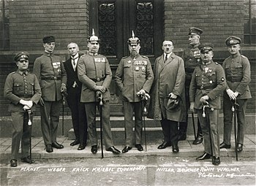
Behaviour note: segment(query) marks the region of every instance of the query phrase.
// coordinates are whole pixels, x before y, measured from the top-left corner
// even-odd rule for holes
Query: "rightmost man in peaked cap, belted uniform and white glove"
[[[230,56],[222,64],[225,70],[227,88],[223,94],[224,133],[223,142],[220,148],[230,149],[230,135],[232,130],[233,111],[232,106],[236,101],[236,113],[238,123],[237,152],[243,150],[244,131],[246,128],[245,111],[248,98],[252,98],[249,90],[251,81],[251,70],[248,58],[241,55],[241,39],[236,36],[229,36],[226,41],[227,50]]]

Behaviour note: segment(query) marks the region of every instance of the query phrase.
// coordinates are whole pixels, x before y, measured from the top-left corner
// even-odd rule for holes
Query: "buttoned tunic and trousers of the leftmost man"
[[[30,129],[28,125],[28,112],[23,110],[20,99],[33,101],[31,111],[35,110],[35,104],[41,98],[41,90],[37,77],[28,71],[16,71],[7,76],[4,85],[4,96],[10,100],[9,111],[12,112],[12,159],[18,158],[21,140],[21,155],[26,158],[29,155]],[[31,122],[33,122],[31,116]]]

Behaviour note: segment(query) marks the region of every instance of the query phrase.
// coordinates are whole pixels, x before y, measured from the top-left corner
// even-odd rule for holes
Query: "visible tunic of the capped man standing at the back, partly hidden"
[[[198,48],[200,43],[195,44],[194,46],[189,45],[184,52],[182,53],[181,58],[184,60],[185,73],[186,73],[186,85],[189,86],[193,71],[196,66],[200,66],[200,50]]]

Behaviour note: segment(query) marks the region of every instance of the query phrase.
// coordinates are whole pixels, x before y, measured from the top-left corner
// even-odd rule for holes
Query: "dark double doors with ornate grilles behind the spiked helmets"
[[[140,54],[154,59],[162,53],[163,0],[90,0],[89,28],[101,39],[99,53],[112,66],[129,55],[127,39],[140,39]]]

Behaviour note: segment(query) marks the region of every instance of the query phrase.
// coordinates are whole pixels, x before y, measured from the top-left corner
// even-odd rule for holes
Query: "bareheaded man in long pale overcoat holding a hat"
[[[164,53],[154,62],[148,117],[161,122],[165,140],[157,148],[162,150],[172,146],[173,153],[178,153],[178,122],[184,121],[186,110],[185,70],[183,59],[173,53],[173,48],[172,41],[162,42]],[[170,100],[180,101],[177,106],[171,106],[172,104],[168,104]]]

